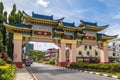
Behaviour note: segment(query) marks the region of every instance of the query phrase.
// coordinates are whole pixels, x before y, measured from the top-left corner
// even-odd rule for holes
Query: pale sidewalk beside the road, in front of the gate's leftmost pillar
[[[21,68],[17,70],[14,80],[34,80],[32,75],[26,70],[26,68]]]

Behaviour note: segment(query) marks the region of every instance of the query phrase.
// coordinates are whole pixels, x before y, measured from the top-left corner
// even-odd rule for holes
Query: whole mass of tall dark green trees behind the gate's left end
[[[20,10],[17,12],[16,4],[13,5],[9,17],[7,17],[7,11],[4,11],[4,5],[0,2],[0,49],[6,50],[8,55],[13,57],[13,33],[7,33],[3,22],[9,24],[20,24],[22,23],[23,14]],[[0,50],[0,51],[1,51]]]

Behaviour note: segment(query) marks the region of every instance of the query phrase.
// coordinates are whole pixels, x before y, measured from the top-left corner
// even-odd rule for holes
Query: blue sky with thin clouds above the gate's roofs
[[[11,11],[16,3],[17,9],[29,15],[32,12],[54,15],[55,19],[65,17],[64,21],[79,24],[80,20],[107,25],[103,33],[120,34],[120,0],[0,0],[5,10]]]

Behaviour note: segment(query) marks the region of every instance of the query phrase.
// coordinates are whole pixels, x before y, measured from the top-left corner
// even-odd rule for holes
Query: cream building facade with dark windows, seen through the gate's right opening
[[[97,46],[81,45],[77,48],[77,61],[100,62],[100,49]]]

